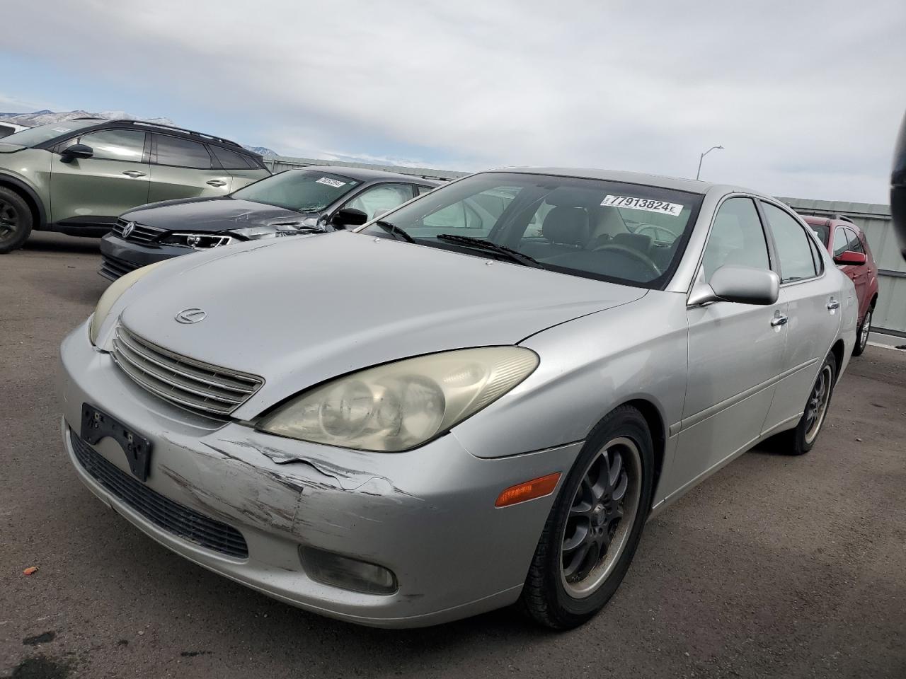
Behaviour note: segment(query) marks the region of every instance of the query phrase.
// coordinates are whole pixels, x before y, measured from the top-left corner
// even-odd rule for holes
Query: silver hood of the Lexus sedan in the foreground
[[[218,250],[150,273],[120,320],[160,347],[265,378],[239,418],[352,370],[516,344],[646,292],[350,232]],[[204,320],[177,322],[190,308]]]

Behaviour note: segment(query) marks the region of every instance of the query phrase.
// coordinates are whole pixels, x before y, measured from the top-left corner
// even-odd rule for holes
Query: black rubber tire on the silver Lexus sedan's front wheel
[[[622,513],[623,511],[623,503],[631,500],[631,498],[627,497],[630,494],[630,488],[632,488],[633,497],[636,497],[635,487],[631,484],[637,483],[638,500],[635,502],[634,515],[631,524],[627,522],[622,524],[622,526],[621,522],[623,519],[602,519],[602,521],[616,521],[614,524],[616,526],[614,535],[607,538],[611,546],[613,546],[611,540],[615,541],[617,535],[622,535],[621,542],[615,548],[617,553],[612,555],[611,558],[605,556],[601,560],[595,560],[600,558],[600,552],[595,552],[595,556],[591,557],[590,560],[601,567],[605,566],[607,561],[610,561],[610,564],[607,565],[606,569],[602,570],[602,576],[599,576],[603,579],[597,582],[589,590],[589,593],[576,597],[573,596],[573,593],[568,588],[581,586],[583,580],[569,584],[564,569],[564,555],[570,553],[566,551],[569,548],[564,544],[565,531],[569,521],[576,521],[574,514],[571,514],[571,509],[574,511],[573,502],[578,501],[580,493],[584,493],[585,489],[591,491],[589,486],[583,486],[583,480],[588,474],[592,473],[594,465],[601,464],[599,463],[601,459],[616,459],[610,453],[611,456],[605,458],[602,451],[605,449],[608,451],[616,449],[621,444],[616,444],[612,447],[607,446],[619,440],[630,441],[634,444],[635,451],[632,451],[632,446],[625,446],[622,451],[618,450],[621,453],[620,464],[622,464],[622,467],[618,468],[618,480],[613,483],[614,492],[612,494],[614,496],[617,494],[615,486],[622,484],[622,471],[625,470],[627,485],[622,493],[620,512]],[[632,467],[630,458],[635,456],[634,453],[638,453],[638,468]],[[625,460],[623,460],[624,456]],[[632,471],[633,468],[635,469],[634,472]],[[631,473],[639,476],[636,482],[629,478]],[[594,427],[592,434],[588,437],[588,441],[583,446],[582,452],[576,459],[575,464],[573,464],[573,468],[567,474],[560,493],[557,494],[554,507],[551,509],[551,513],[545,523],[545,529],[542,531],[541,540],[539,540],[535,549],[535,556],[532,559],[532,565],[525,579],[525,587],[520,598],[520,606],[530,617],[534,618],[538,623],[553,629],[572,629],[582,625],[601,610],[620,586],[626,571],[629,569],[632,556],[639,546],[641,531],[651,509],[653,478],[654,445],[651,442],[651,432],[645,418],[631,406],[620,406],[612,410],[608,416],[605,416]],[[582,491],[580,491],[580,486],[583,487]],[[593,502],[596,502],[593,510],[600,510],[602,508],[600,502],[604,501],[595,500]],[[616,511],[615,507],[614,511]],[[609,506],[607,514],[609,515],[610,512],[611,508]],[[589,512],[589,517],[601,517],[602,514],[603,512],[595,513],[593,511]],[[624,518],[628,521],[628,517]],[[584,517],[582,519],[584,520]],[[593,521],[597,520],[588,519],[590,525],[593,525]],[[610,524],[605,523],[604,526],[606,527],[603,530],[609,534],[611,530]],[[602,529],[596,528],[593,530],[600,531]],[[610,552],[605,551],[604,553]],[[594,570],[587,575],[586,579],[593,579],[593,572]]]

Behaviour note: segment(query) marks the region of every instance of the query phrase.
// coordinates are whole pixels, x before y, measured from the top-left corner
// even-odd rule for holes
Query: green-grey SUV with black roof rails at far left
[[[0,139],[0,253],[33,229],[100,236],[153,201],[224,196],[270,172],[236,142],[140,120],[77,118]]]

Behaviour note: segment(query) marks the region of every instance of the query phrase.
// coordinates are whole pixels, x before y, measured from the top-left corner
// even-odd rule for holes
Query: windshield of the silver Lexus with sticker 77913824
[[[416,243],[648,288],[670,280],[702,196],[599,179],[487,172],[384,215]],[[375,223],[361,233],[405,238]],[[524,263],[530,260],[522,258]]]

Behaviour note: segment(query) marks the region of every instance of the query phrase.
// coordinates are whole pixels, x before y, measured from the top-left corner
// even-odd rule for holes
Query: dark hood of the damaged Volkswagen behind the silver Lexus
[[[300,223],[304,215],[229,196],[167,200],[130,210],[123,219],[167,231],[219,232],[244,226]]]

